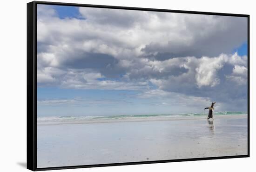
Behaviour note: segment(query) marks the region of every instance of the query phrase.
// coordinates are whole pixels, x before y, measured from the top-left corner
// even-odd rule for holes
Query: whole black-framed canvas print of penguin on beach
[[[27,168],[249,157],[249,15],[27,4]]]

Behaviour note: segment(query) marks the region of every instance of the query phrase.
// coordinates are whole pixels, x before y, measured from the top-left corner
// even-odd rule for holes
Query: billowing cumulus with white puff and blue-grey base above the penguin
[[[180,76],[152,78],[150,82],[164,91],[187,96],[209,97],[215,102],[225,102],[222,103],[223,108],[229,107],[228,104],[234,103],[233,101],[237,99],[246,102],[247,78],[234,75],[234,69],[227,67],[244,64],[245,57],[235,53],[212,58],[182,57],[182,59],[184,61],[180,65],[183,65],[188,72]],[[242,102],[242,104],[246,107],[245,103]],[[241,107],[241,104],[239,106]]]

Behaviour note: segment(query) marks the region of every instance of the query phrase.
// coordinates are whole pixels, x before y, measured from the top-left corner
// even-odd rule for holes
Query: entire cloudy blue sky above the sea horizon
[[[37,5],[38,116],[247,112],[247,18]]]

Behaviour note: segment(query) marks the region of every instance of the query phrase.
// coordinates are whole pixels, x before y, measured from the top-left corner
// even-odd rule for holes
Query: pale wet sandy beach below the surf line
[[[61,125],[60,125],[61,124]],[[247,115],[135,120],[39,121],[37,167],[247,154]]]

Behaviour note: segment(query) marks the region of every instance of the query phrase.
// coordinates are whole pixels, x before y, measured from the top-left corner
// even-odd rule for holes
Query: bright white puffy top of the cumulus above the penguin
[[[218,57],[177,57],[165,61],[158,61],[158,68],[161,71],[165,71],[171,64],[168,64],[170,60],[173,61],[171,64],[178,66],[183,66],[185,69],[188,69],[188,72],[183,73],[180,76],[171,76],[168,75],[168,79],[155,78],[151,79],[152,83],[155,83],[162,89],[166,87],[177,86],[178,84],[189,83],[192,88],[193,85],[197,85],[198,88],[203,86],[215,87],[220,84],[219,71],[223,68],[225,64],[234,65],[233,73],[243,72],[244,76],[247,76],[247,68],[241,67],[237,64],[246,64],[246,57],[240,57],[236,53],[233,55],[221,54]],[[182,86],[182,85],[180,85]]]

